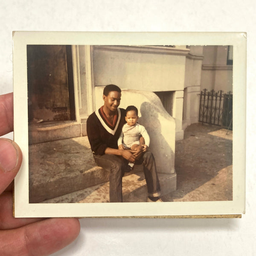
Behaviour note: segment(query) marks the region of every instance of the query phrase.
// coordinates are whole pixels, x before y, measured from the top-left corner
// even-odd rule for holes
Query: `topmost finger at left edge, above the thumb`
[[[13,131],[13,93],[0,95],[0,136]]]

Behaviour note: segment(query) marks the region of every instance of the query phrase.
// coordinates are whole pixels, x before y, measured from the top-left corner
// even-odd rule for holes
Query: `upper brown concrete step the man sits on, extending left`
[[[135,166],[131,172],[142,171]],[[129,173],[130,174],[130,173]],[[93,159],[87,137],[29,145],[29,202],[38,203],[109,180]]]

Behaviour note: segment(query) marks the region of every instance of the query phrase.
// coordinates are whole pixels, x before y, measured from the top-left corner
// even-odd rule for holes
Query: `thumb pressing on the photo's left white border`
[[[22,153],[12,140],[0,138],[0,194],[12,182],[20,169]]]

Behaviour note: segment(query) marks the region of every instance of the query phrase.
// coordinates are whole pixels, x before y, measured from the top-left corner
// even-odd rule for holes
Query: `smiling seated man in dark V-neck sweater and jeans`
[[[143,152],[140,145],[136,150],[120,150],[117,141],[125,124],[125,110],[118,108],[121,90],[114,84],[104,88],[104,105],[87,119],[87,136],[96,164],[110,172],[109,197],[111,202],[122,202],[122,177],[129,171],[128,163],[143,164],[148,187],[148,202],[161,201],[160,184],[154,156]],[[144,143],[141,143],[144,144]],[[147,150],[147,149],[146,149]]]

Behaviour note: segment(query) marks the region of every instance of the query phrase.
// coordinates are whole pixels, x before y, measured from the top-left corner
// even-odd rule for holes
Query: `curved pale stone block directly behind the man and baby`
[[[96,109],[103,104],[104,87],[95,88]],[[134,105],[139,110],[139,120],[150,137],[149,150],[154,154],[157,172],[174,174],[175,119],[164,109],[155,93],[122,89],[120,108]]]

